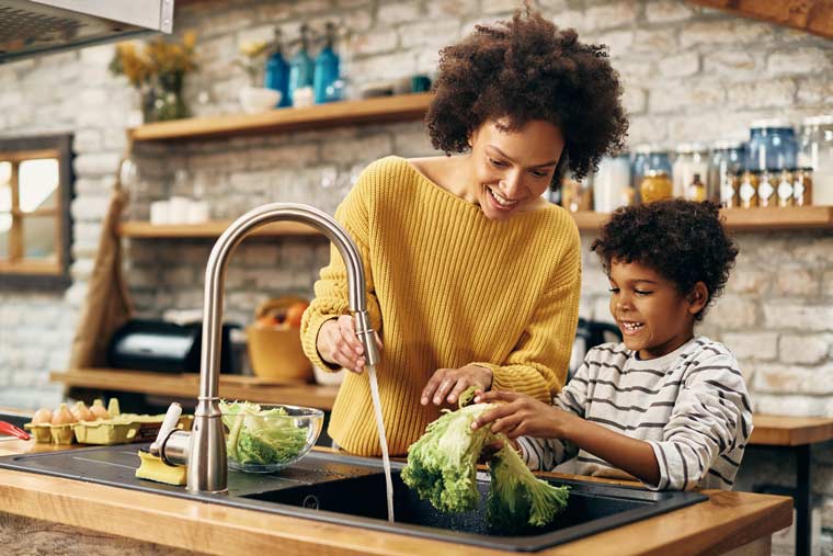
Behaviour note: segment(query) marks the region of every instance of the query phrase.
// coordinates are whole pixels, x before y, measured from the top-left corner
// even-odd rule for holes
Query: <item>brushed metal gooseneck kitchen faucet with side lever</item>
[[[181,409],[179,405],[172,405],[157,442],[150,446],[150,452],[168,465],[187,465],[186,488],[194,492],[222,492],[228,483],[226,442],[217,397],[226,265],[231,253],[247,236],[264,224],[281,220],[307,224],[335,243],[347,269],[350,311],[355,319],[356,334],[364,344],[367,365],[378,362],[374,331],[367,317],[364,265],[358,249],[346,230],[327,213],[300,204],[272,203],[239,217],[214,245],[205,269],[199,397],[193,427],[190,432],[173,430]]]

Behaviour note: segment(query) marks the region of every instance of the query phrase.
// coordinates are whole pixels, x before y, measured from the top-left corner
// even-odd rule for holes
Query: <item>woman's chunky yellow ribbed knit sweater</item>
[[[367,309],[384,349],[376,368],[391,455],[436,419],[420,394],[437,368],[468,363],[494,373],[492,388],[541,400],[561,389],[578,321],[579,232],[549,205],[490,220],[480,207],[446,191],[410,162],[370,164],[335,218],[365,264]],[[321,325],[347,313],[346,271],[335,248],[316,282],[301,324],[307,356]],[[367,373],[346,373],[329,433],[344,450],[379,455]]]

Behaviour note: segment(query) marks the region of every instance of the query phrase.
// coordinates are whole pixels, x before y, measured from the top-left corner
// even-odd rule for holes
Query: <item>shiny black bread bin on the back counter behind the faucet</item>
[[[231,350],[230,330],[222,325],[220,372],[238,373]],[[198,373],[203,338],[202,322],[178,325],[164,320],[128,320],[116,330],[107,349],[112,368],[157,373]]]

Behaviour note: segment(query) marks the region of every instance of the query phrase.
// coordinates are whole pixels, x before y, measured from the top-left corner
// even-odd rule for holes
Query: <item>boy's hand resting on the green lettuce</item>
[[[490,409],[471,423],[472,429],[479,429],[492,423],[492,432],[504,433],[509,439],[518,436],[537,436],[545,439],[558,439],[563,436],[563,431],[569,427],[572,413],[544,404],[526,394],[515,392],[487,392],[477,393],[475,401],[493,402],[505,401],[494,409]]]

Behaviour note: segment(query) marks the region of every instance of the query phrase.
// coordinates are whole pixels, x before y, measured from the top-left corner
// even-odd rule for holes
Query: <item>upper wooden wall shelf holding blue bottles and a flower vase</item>
[[[407,122],[421,120],[431,98],[431,93],[414,93],[270,110],[260,114],[191,117],[146,124],[130,129],[129,135],[134,141],[183,140]]]

